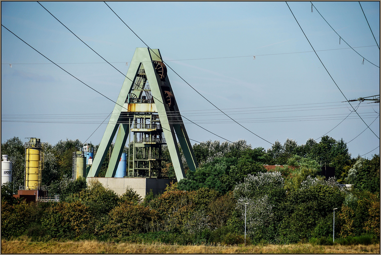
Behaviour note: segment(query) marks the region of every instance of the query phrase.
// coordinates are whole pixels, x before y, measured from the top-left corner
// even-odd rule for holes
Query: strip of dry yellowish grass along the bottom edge
[[[30,242],[30,238],[1,242],[2,253],[379,253],[376,245],[166,245],[99,241]]]

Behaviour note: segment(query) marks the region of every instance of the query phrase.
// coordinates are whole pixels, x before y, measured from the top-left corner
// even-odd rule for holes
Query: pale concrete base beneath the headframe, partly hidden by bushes
[[[119,196],[126,189],[132,188],[141,198],[146,197],[146,194],[152,189],[152,193],[163,194],[167,184],[177,182],[176,179],[157,179],[157,178],[106,178],[106,177],[88,177],[88,183],[91,180],[98,180],[105,188],[109,188]]]

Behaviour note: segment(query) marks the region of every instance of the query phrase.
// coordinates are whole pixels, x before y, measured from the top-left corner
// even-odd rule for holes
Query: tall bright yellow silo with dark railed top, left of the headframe
[[[25,189],[39,189],[43,168],[43,143],[39,138],[30,138],[25,143]]]

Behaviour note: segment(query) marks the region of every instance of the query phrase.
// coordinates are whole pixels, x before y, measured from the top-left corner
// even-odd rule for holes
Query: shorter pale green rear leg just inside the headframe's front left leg
[[[107,167],[107,172],[105,177],[115,177],[115,173],[117,172],[117,168],[119,164],[119,159],[122,156],[124,145],[126,144],[126,141],[127,141],[129,129],[130,129],[130,125],[128,123],[120,124],[117,138],[115,140],[114,149],[112,150],[112,153],[111,153],[111,159],[109,162],[109,166]]]

